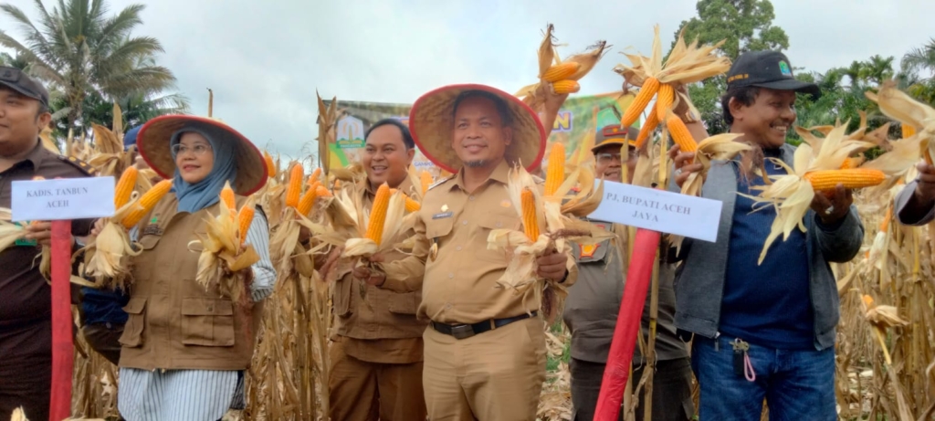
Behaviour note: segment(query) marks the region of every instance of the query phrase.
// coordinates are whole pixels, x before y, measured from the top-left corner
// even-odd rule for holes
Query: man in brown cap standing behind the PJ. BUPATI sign
[[[591,149],[597,160],[597,176],[607,181],[623,180],[623,166],[628,180],[633,180],[639,152],[636,138],[639,132],[630,127],[609,125],[597,131],[595,147]],[[594,225],[613,232],[618,244],[626,247],[626,229],[606,221],[591,220]],[[571,402],[572,421],[591,421],[597,407],[597,395],[611,349],[613,327],[620,312],[624,294],[625,272],[622,259],[626,250],[620,250],[605,240],[597,245],[573,244],[572,253],[578,261],[578,283],[568,288],[563,318],[571,330]],[[652,415],[654,420],[683,421],[695,414],[691,400],[691,365],[685,343],[675,333],[675,294],[672,291],[673,270],[663,265],[659,275],[658,314],[656,319],[655,372],[653,377]],[[643,307],[642,334],[649,336],[651,295]],[[640,348],[633,356],[634,383],[640,381],[645,359]],[[642,419],[643,408],[636,408],[637,419]],[[623,419],[623,412],[621,419]]]

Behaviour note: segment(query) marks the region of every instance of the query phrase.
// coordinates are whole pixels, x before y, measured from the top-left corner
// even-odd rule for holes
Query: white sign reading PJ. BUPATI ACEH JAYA
[[[588,217],[713,242],[722,206],[720,200],[604,181],[604,198]]]

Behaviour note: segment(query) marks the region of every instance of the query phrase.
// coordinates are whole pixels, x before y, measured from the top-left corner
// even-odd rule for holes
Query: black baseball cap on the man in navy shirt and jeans
[[[779,51],[747,51],[741,54],[727,72],[727,89],[744,86],[812,94],[813,99],[821,96],[818,85],[796,80],[789,59]]]

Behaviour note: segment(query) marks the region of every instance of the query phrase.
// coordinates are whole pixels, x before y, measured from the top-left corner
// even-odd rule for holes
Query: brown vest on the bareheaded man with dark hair
[[[369,208],[373,196],[366,189],[367,181],[361,182],[359,193],[362,203]],[[409,179],[399,189],[412,195]],[[393,239],[394,242],[405,240],[413,231]],[[396,251],[384,254],[387,262],[406,257]],[[338,268],[341,280],[334,288],[334,312],[337,316],[338,335],[360,340],[422,338],[427,320],[416,318],[422,295],[419,292],[396,293],[387,289],[367,285],[354,279],[351,268]],[[367,288],[366,298],[361,296],[360,288]]]

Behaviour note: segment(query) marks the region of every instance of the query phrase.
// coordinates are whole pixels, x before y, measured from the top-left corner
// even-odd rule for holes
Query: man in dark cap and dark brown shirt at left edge
[[[20,69],[0,67],[0,208],[10,208],[13,181],[35,177],[88,177],[94,169],[42,146],[39,133],[51,120],[49,93]],[[72,222],[85,236],[93,221]],[[30,419],[49,419],[51,385],[51,290],[33,260],[50,244],[51,224],[37,222],[0,251],[0,419],[23,407]]]

